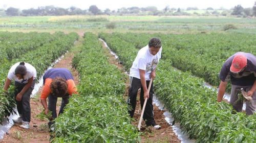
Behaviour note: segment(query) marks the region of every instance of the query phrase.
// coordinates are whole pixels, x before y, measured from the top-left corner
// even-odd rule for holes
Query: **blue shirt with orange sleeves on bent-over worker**
[[[46,71],[43,79],[44,87],[41,92],[41,99],[47,99],[49,94],[52,93],[50,85],[52,80],[56,77],[60,77],[66,80],[68,85],[68,94],[72,96],[73,93],[77,93],[77,88],[74,82],[74,78],[67,68],[51,68]]]

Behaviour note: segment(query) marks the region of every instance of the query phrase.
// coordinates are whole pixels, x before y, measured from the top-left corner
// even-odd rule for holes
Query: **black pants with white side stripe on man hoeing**
[[[146,81],[147,87],[149,83],[150,81]],[[139,89],[140,89],[140,106],[142,109],[144,104],[144,90],[142,88],[140,79],[135,77],[130,77],[130,89],[129,89],[129,97],[127,99],[127,104],[129,105],[128,112],[130,113],[131,117],[133,117],[134,115],[134,111],[136,108],[136,98],[137,98],[137,93]],[[153,104],[152,104],[153,94],[154,94],[154,91],[153,91],[153,82],[152,82],[151,89],[150,89],[150,98],[147,99],[145,111],[143,114],[143,120],[146,122],[147,126],[156,125],[154,120]]]

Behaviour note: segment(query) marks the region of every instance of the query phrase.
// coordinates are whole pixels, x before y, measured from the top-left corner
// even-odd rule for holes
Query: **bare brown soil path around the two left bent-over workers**
[[[80,34],[82,35],[82,34]],[[72,59],[74,57],[74,53],[66,53],[65,57],[63,57],[58,63],[56,63],[54,68],[68,68],[73,77],[74,82],[78,84],[78,73],[72,67]],[[41,93],[41,89],[39,89],[37,94]],[[57,113],[59,111],[59,107],[61,104],[61,98],[58,98],[57,102]],[[49,142],[50,134],[48,129],[48,120],[40,120],[36,115],[42,112],[44,109],[40,103],[40,98],[37,95],[35,98],[30,99],[31,106],[31,122],[30,129],[23,129],[19,127],[19,124],[14,124],[13,127],[9,130],[9,132],[4,136],[0,142]]]

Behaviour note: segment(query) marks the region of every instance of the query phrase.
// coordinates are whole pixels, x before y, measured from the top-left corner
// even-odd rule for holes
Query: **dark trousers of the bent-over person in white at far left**
[[[15,85],[15,98],[16,98],[17,94],[20,91],[22,91],[22,89],[26,84],[22,84],[15,81],[14,85]],[[34,86],[35,86],[35,80],[33,80],[31,87],[23,94],[22,100],[16,101],[18,113],[22,115],[22,120],[24,122],[30,122],[30,118],[31,118],[30,95],[32,93],[32,90],[34,89]]]

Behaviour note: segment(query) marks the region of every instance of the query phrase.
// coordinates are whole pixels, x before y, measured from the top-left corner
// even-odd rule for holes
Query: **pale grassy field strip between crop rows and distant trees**
[[[112,23],[114,29],[106,28]],[[142,32],[198,33],[227,32],[225,25],[237,29],[228,32],[256,33],[256,19],[206,16],[30,16],[0,17],[1,31],[38,32]]]

